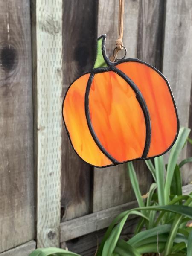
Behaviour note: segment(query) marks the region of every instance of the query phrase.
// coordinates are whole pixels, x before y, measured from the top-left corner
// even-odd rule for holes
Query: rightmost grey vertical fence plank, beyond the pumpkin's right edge
[[[167,77],[175,97],[180,125],[188,126],[190,91],[192,84],[192,1],[167,0],[163,74]],[[183,150],[182,158],[187,156]],[[189,168],[183,169],[183,182],[192,177]]]

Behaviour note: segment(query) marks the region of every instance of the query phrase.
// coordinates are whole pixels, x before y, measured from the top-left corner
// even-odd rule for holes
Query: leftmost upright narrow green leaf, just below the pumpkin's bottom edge
[[[133,166],[132,162],[128,162],[128,175],[130,177],[131,185],[133,187],[134,194],[136,196],[138,205],[139,205],[139,207],[144,207],[145,204],[144,204],[141,192],[140,192],[139,183],[138,183],[138,180],[137,180],[137,175],[136,175],[136,172],[134,170],[134,166]]]

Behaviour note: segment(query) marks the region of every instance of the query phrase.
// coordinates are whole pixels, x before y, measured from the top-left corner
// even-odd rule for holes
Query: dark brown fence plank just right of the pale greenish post
[[[64,0],[63,97],[69,85],[93,66],[97,1]],[[61,221],[90,212],[90,166],[74,152],[62,125]]]

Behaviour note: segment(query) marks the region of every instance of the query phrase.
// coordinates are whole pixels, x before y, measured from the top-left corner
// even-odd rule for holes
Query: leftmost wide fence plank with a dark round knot
[[[0,1],[0,252],[34,239],[28,0]]]

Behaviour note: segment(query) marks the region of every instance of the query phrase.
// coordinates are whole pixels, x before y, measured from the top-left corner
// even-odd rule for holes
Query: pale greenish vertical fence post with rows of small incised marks
[[[51,247],[61,209],[62,0],[34,0],[32,14],[37,246]]]

